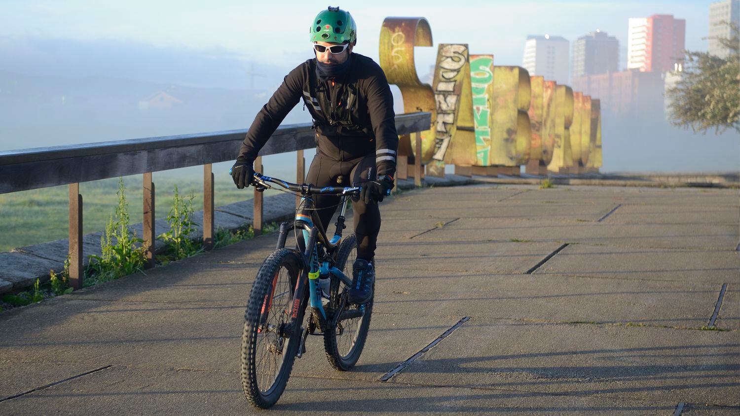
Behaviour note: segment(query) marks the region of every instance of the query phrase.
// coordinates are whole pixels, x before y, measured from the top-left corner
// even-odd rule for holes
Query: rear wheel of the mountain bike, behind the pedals
[[[357,239],[354,235],[348,236],[340,245],[335,266],[347,276],[352,276],[352,265],[355,258]],[[340,371],[348,371],[363,353],[365,341],[370,328],[373,300],[370,299],[362,307],[347,302],[347,287],[339,279],[332,279],[329,296],[329,308],[334,313],[359,314],[362,316],[337,321],[337,325],[329,325],[324,333],[324,349],[329,364]],[[341,309],[340,309],[341,308]]]

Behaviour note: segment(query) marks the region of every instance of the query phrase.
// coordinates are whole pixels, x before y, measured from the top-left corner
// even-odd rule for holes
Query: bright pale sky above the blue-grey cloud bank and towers
[[[357,52],[377,59],[387,16],[423,16],[435,47],[417,48],[420,75],[434,64],[438,43],[467,42],[471,52],[494,53],[497,64],[521,64],[528,34],[562,35],[570,41],[600,29],[626,51],[630,17],[673,14],[685,18],[686,46],[705,50],[712,1],[358,1],[340,7],[357,21]],[[450,7],[447,4],[454,4]],[[158,47],[238,53],[293,67],[311,56],[309,22],[324,1],[0,0],[0,36],[30,35],[80,41],[141,41]],[[334,4],[336,5],[336,4]],[[7,40],[6,40],[7,41]],[[624,62],[622,56],[620,61]]]

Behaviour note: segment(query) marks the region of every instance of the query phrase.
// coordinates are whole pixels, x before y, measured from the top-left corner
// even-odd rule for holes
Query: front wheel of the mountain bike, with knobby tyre
[[[249,293],[241,337],[241,381],[246,400],[262,409],[283,394],[300,344],[305,302],[295,321],[291,316],[300,270],[298,253],[275,250],[263,262]]]

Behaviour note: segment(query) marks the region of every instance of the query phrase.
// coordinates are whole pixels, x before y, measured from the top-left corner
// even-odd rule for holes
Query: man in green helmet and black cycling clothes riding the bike
[[[398,134],[393,96],[386,75],[371,58],[352,52],[357,26],[346,10],[329,7],[311,24],[315,58],[293,69],[262,107],[243,140],[232,168],[238,188],[249,186],[258,152],[288,112],[303,98],[314,120],[316,156],[306,183],[362,186],[353,200],[357,259],[352,265],[349,301],[372,297],[374,254],[380,231],[377,202],[393,188]],[[321,223],[328,227],[339,197],[314,197]]]

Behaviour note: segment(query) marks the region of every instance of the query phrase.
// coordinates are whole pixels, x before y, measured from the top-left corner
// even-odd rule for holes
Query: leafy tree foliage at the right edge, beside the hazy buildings
[[[740,132],[740,39],[731,24],[731,38],[718,41],[730,50],[727,58],[686,51],[684,72],[667,90],[670,123],[694,132]]]

